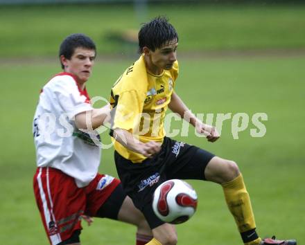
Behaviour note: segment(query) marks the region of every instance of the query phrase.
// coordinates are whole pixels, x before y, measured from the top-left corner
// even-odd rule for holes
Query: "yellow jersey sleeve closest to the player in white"
[[[137,91],[125,91],[119,96],[115,108],[113,129],[120,128],[128,131],[138,125],[139,115],[143,109],[143,103]]]

